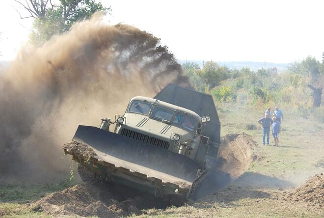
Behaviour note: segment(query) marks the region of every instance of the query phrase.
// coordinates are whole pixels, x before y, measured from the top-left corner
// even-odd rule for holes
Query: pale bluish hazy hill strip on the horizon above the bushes
[[[203,67],[203,60],[178,60],[181,64],[187,62],[194,62],[199,64],[200,68]],[[206,61],[205,61],[206,62]],[[278,72],[287,70],[289,63],[269,63],[269,62],[254,62],[254,61],[215,61],[220,66],[227,66],[230,69],[241,69],[242,67],[249,67],[253,71],[261,68],[276,67]]]

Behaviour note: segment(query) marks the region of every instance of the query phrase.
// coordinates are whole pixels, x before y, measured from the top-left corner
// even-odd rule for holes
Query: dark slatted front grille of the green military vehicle
[[[169,142],[167,141],[163,141],[159,138],[147,136],[128,129],[122,129],[120,135],[127,136],[135,140],[142,141],[164,149],[168,149],[170,145]]]

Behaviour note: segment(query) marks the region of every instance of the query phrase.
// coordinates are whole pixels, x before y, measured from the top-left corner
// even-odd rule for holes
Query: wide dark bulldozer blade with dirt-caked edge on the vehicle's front
[[[80,164],[106,180],[155,195],[187,195],[200,168],[184,155],[92,126],[80,125],[73,139],[96,154],[85,160],[65,148]]]

